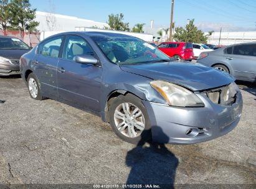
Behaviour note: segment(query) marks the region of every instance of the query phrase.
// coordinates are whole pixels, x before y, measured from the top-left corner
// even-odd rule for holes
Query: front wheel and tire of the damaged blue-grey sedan
[[[123,141],[143,145],[151,139],[148,113],[141,99],[120,95],[110,104],[110,125]]]

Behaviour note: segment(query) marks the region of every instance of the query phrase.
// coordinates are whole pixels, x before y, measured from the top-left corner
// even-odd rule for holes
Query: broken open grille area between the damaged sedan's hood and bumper
[[[230,106],[235,103],[235,99],[237,98],[238,93],[234,85],[234,83],[231,83],[227,86],[205,91],[205,93],[213,103]]]

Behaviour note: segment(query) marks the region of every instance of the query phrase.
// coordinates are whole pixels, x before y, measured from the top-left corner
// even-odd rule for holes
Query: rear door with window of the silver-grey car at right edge
[[[255,81],[256,77],[256,44],[241,44],[228,47],[224,56],[230,63],[234,76],[238,80]]]

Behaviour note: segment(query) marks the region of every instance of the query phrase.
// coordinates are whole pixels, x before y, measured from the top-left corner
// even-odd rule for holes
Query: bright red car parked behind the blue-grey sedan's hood
[[[193,47],[191,43],[163,42],[158,45],[158,49],[164,52],[169,57],[174,57],[176,59],[194,59]]]

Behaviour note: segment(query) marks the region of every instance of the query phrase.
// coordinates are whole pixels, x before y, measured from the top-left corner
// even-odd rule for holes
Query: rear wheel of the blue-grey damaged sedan
[[[39,81],[37,80],[37,77],[34,75],[34,73],[29,74],[27,77],[27,86],[29,88],[29,94],[31,95],[32,99],[44,99],[40,91]]]

